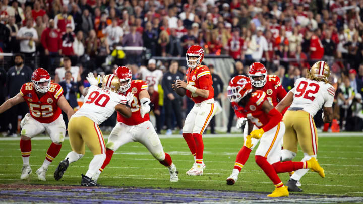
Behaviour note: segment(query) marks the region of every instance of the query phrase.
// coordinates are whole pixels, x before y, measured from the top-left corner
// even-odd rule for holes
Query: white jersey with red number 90
[[[115,111],[117,104],[126,104],[126,97],[115,92],[90,86],[82,107],[72,117],[86,116],[97,124],[101,124]]]

